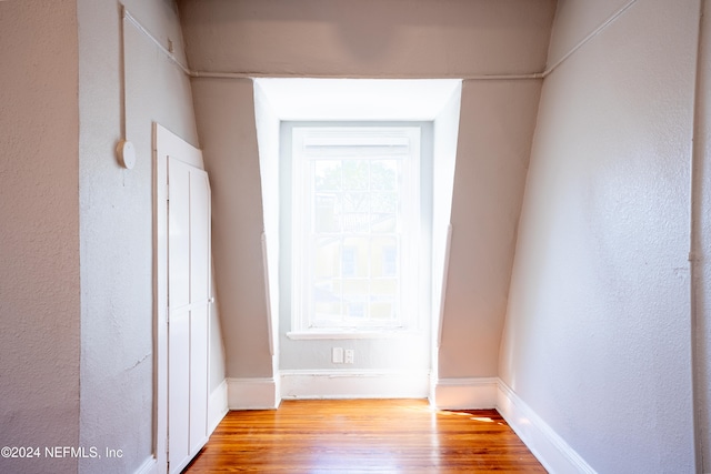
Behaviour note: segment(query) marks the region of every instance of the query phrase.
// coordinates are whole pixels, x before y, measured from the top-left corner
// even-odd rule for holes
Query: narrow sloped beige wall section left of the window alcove
[[[206,169],[212,182],[212,244],[227,374],[270,377],[252,81],[199,79],[192,90]]]

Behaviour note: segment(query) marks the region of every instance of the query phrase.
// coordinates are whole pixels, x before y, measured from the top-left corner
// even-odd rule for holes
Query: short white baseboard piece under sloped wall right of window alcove
[[[439,379],[430,402],[443,410],[494,409],[498,383],[495,377]]]

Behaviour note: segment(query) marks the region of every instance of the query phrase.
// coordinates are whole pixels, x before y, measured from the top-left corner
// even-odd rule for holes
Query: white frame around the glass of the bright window
[[[420,284],[420,265],[418,251],[420,248],[420,184],[421,184],[421,127],[419,124],[388,124],[388,125],[313,125],[293,124],[291,129],[291,332],[292,339],[311,339],[319,336],[382,336],[388,333],[403,333],[413,330],[419,321],[420,304],[417,297]],[[306,260],[309,258],[304,252],[308,241],[308,230],[311,228],[310,220],[304,215],[304,209],[310,203],[307,199],[309,183],[308,163],[309,158],[303,153],[304,142],[327,144],[329,140],[334,140],[334,144],[342,138],[349,137],[353,143],[378,145],[388,142],[395,143],[405,138],[411,152],[402,160],[402,172],[407,174],[403,183],[401,200],[405,203],[401,210],[402,218],[409,222],[408,229],[400,229],[405,239],[400,243],[400,302],[399,314],[394,321],[387,324],[375,321],[364,321],[354,324],[353,321],[346,321],[339,324],[323,325],[322,321],[313,317],[312,304],[306,292],[308,285],[313,281],[313,275],[309,271]],[[332,139],[330,139],[332,138]],[[306,139],[306,140],[304,140]],[[389,159],[391,157],[388,157]],[[311,173],[312,175],[312,173]],[[298,225],[302,223],[302,225]]]

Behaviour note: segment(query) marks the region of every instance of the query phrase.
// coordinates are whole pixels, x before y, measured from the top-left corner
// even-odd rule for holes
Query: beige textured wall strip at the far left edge
[[[3,473],[76,472],[79,183],[73,1],[0,2],[0,457]]]

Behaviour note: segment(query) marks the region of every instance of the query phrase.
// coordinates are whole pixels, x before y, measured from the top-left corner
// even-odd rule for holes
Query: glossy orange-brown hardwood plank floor
[[[230,412],[186,473],[544,473],[493,410],[424,400],[284,401]]]

